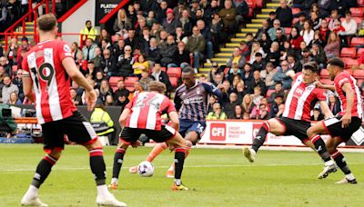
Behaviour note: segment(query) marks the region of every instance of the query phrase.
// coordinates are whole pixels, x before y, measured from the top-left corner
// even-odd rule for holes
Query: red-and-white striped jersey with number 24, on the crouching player
[[[126,127],[157,131],[162,130],[161,115],[176,112],[175,104],[166,95],[153,92],[137,94],[126,108],[131,110]]]

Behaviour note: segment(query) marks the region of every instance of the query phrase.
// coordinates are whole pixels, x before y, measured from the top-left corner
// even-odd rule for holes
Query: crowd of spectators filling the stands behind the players
[[[206,60],[212,69],[200,75],[200,81],[215,84],[224,94],[223,100],[209,97],[207,119],[279,117],[302,65],[315,61],[325,68],[328,60],[339,56],[340,48],[349,44],[349,38],[359,34],[357,24],[352,24],[347,9],[341,11],[342,6],[334,6],[329,15],[322,15],[318,1],[308,10],[306,1],[296,3],[293,1],[291,6],[301,6],[301,12],[293,15],[291,7],[281,0],[277,11],[269,14],[256,34],[246,34],[226,64],[212,62],[211,58],[246,20],[247,14],[238,10],[247,5],[244,0],[133,2],[118,11],[112,31],[98,32],[91,21],[86,21],[80,31],[84,46],[73,43],[71,53],[79,70],[95,85],[99,102],[105,105],[124,107],[137,93],[147,91],[152,80],[163,82],[167,94],[173,94],[176,88],[166,71],[171,67],[182,70],[188,65],[197,71]],[[340,21],[340,17],[345,18]],[[294,18],[298,21],[293,24]],[[29,48],[26,38],[21,45],[12,40],[0,58],[3,103],[27,103],[19,63]],[[18,68],[15,74],[13,65]],[[6,76],[13,77],[13,82]],[[113,77],[122,78],[111,85]],[[136,80],[132,88],[126,87],[128,78]],[[86,104],[84,90],[75,83],[71,95],[76,105]],[[328,103],[333,113],[338,113],[339,99],[334,94],[329,94]],[[312,112],[312,120],[322,118],[317,109]]]

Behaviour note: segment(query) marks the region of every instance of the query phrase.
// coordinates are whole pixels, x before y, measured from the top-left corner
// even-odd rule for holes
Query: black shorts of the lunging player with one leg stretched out
[[[293,135],[296,136],[302,143],[308,141],[308,128],[311,126],[311,123],[290,119],[287,117],[276,118],[279,123],[282,123],[285,126],[285,132],[282,135]]]

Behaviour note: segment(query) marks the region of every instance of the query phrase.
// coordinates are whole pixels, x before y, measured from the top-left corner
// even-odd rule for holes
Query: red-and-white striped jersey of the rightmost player
[[[346,72],[341,72],[334,79],[336,93],[339,94],[339,99],[341,102],[341,112],[340,115],[344,115],[347,111],[347,97],[345,96],[345,92],[342,91],[342,85],[349,83],[351,85],[351,89],[354,91],[354,104],[351,110],[351,116],[357,116],[362,119],[363,116],[363,108],[362,108],[362,100],[360,96],[360,90],[357,84],[357,80],[350,74]]]

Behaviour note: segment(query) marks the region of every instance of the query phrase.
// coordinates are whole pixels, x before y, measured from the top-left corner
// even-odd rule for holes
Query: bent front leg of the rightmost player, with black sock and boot
[[[329,133],[329,129],[326,123],[332,123],[331,127],[336,127],[336,125],[341,124],[339,122],[339,119],[331,118],[319,123],[315,123],[308,128],[308,138],[315,145],[316,151],[319,153],[321,159],[325,162],[324,170],[319,173],[319,179],[326,178],[329,173],[335,173],[337,171],[337,167],[335,163],[331,160],[330,154],[326,148],[326,144],[319,135],[322,133]]]

